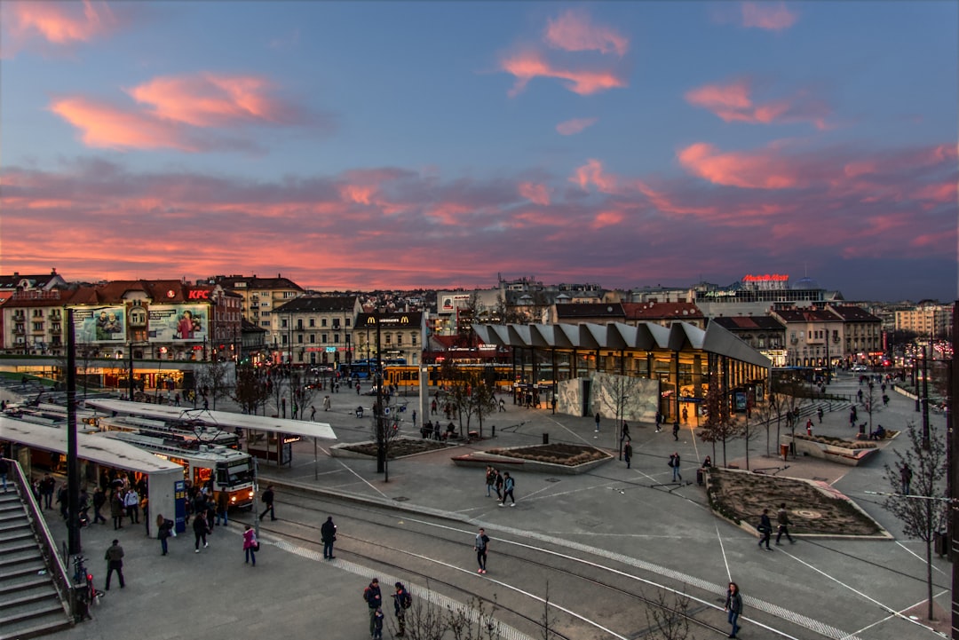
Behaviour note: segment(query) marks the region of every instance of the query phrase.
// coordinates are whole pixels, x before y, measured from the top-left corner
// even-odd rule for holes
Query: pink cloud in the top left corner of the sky
[[[5,29],[16,39],[36,35],[58,45],[111,33],[118,20],[105,2],[5,2]]]

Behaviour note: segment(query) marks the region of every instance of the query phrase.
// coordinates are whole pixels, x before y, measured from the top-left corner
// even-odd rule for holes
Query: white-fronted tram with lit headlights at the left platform
[[[221,445],[184,444],[176,439],[148,436],[135,431],[105,431],[104,436],[150,451],[183,468],[183,478],[195,487],[213,485],[214,500],[226,493],[231,508],[253,507],[253,457]]]

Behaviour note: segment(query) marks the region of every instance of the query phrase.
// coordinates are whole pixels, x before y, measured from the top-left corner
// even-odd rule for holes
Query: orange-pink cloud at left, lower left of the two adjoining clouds
[[[198,151],[173,123],[85,98],[54,101],[50,110],[81,130],[87,147]]]

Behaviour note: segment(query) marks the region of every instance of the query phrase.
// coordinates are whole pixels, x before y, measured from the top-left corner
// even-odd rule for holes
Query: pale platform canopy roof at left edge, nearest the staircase
[[[31,446],[45,451],[55,451],[66,455],[67,429],[65,425],[43,426],[25,423],[22,420],[0,416],[0,439],[21,445]],[[139,446],[87,433],[77,434],[77,455],[83,460],[98,465],[128,469],[140,473],[157,473],[175,469],[182,472],[179,465],[158,458],[150,451]]]

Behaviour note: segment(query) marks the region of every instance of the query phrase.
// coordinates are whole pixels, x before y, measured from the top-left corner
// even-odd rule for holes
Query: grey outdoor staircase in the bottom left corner
[[[7,492],[0,492],[0,640],[25,640],[73,624],[28,514],[8,480]]]

